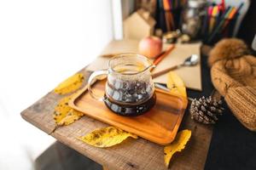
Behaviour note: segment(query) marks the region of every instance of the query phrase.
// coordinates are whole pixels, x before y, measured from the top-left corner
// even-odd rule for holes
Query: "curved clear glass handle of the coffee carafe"
[[[88,83],[87,83],[87,85],[88,85],[88,91],[89,91],[89,93],[90,93],[90,96],[91,96],[93,99],[97,99],[97,100],[99,100],[99,101],[104,101],[104,97],[103,97],[103,96],[98,96],[98,95],[96,95],[96,94],[93,92],[91,86],[92,86],[92,84],[93,84],[94,82],[96,82],[96,80],[102,80],[102,79],[104,79],[105,77],[101,77],[101,76],[103,76],[103,75],[105,75],[105,76],[107,75],[107,76],[108,76],[108,70],[94,71],[94,72],[90,75],[89,80],[88,80]]]

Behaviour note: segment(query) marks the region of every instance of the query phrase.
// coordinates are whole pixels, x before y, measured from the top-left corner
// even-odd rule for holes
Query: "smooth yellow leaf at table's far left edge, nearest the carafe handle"
[[[69,94],[77,89],[79,89],[84,81],[84,76],[82,73],[77,73],[72,77],[68,77],[67,80],[61,82],[56,88],[56,94]]]

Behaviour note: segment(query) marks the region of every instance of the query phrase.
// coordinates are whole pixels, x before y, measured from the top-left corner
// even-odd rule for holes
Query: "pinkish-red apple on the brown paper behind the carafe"
[[[153,59],[162,52],[162,41],[159,37],[144,37],[139,42],[139,53]]]

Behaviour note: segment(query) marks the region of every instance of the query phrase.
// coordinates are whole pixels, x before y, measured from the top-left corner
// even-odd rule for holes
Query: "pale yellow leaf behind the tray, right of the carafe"
[[[171,90],[172,94],[187,97],[186,87],[183,80],[173,71],[170,71],[167,74],[167,88]]]

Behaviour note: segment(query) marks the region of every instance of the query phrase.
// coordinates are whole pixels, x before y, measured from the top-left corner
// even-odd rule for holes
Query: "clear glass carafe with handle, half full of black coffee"
[[[94,99],[104,101],[108,108],[122,116],[139,116],[155,104],[152,62],[139,54],[119,54],[108,62],[108,70],[90,75],[88,90]],[[99,97],[91,89],[96,77],[108,75],[105,95]]]

